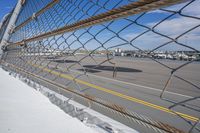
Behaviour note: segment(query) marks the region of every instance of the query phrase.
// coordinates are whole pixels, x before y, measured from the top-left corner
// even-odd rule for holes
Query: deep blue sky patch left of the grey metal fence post
[[[0,0],[0,21],[3,16],[9,13],[17,3],[17,0]]]

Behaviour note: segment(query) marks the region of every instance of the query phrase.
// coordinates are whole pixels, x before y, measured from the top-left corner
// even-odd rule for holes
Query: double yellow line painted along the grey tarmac
[[[30,63],[29,63],[30,64]],[[126,99],[126,100],[129,100],[129,101],[132,101],[132,102],[135,102],[135,103],[139,103],[139,104],[142,104],[142,105],[145,105],[145,106],[148,106],[148,107],[151,107],[151,108],[154,108],[154,109],[157,109],[157,110],[160,110],[160,111],[163,111],[163,112],[166,112],[166,113],[169,113],[169,114],[173,114],[173,115],[180,115],[182,116],[183,118],[185,119],[188,119],[188,120],[191,120],[191,121],[194,121],[194,122],[197,122],[199,120],[199,118],[197,117],[194,117],[194,116],[191,116],[191,115],[188,115],[188,114],[184,114],[184,113],[181,113],[181,112],[176,112],[176,111],[171,111],[170,109],[166,108],[166,107],[162,107],[162,106],[159,106],[159,105],[156,105],[156,104],[152,104],[152,103],[149,103],[149,102],[146,102],[146,101],[143,101],[143,100],[140,100],[140,99],[137,99],[137,98],[134,98],[134,97],[131,97],[131,96],[127,96],[125,94],[122,94],[122,93],[119,93],[119,92],[116,92],[116,91],[113,91],[113,90],[109,90],[109,89],[106,89],[104,87],[101,87],[101,86],[97,86],[95,84],[91,84],[89,82],[86,82],[86,81],[83,81],[83,80],[80,80],[80,79],[74,79],[72,76],[68,75],[68,74],[62,74],[60,72],[56,72],[54,70],[50,70],[44,66],[41,66],[41,65],[36,65],[36,64],[30,64],[34,67],[37,67],[37,68],[40,68],[42,69],[43,71],[46,71],[46,72],[49,72],[51,74],[54,74],[54,75],[57,75],[57,76],[60,76],[62,78],[65,78],[65,79],[68,79],[68,80],[74,80],[75,82],[77,83],[80,83],[80,84],[83,84],[83,85],[86,85],[88,87],[91,87],[91,88],[94,88],[94,89],[97,89],[97,90],[100,90],[100,91],[103,91],[103,92],[106,92],[108,94],[112,94],[114,96],[117,96],[117,97],[120,97],[120,98],[123,98],[123,99]]]

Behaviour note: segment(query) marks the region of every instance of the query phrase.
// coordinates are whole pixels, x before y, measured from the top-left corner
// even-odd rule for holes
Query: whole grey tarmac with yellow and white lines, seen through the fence
[[[115,57],[112,63],[115,63],[118,70],[116,77],[113,78],[112,64],[109,62],[101,64],[105,60],[106,57],[104,56],[95,57],[95,60],[90,57],[83,58],[83,56],[67,56],[56,59],[42,57],[40,60],[37,57],[27,57],[24,58],[23,62],[18,62],[18,65],[23,65],[26,62],[26,68],[24,69],[32,70],[33,73],[64,84],[69,88],[117,104],[154,120],[173,125],[178,129],[184,131],[189,129],[190,126],[186,122],[168,109],[172,103],[161,100],[159,97],[170,75],[170,69],[152,60]],[[162,63],[171,67],[178,67],[183,64],[183,62],[175,61],[162,61]],[[97,64],[101,64],[101,67],[89,69]],[[199,63],[191,63],[178,70],[175,75],[199,86],[199,65]],[[27,66],[30,66],[30,68]],[[88,71],[87,75],[84,74],[82,66]],[[33,70],[33,67],[36,69]],[[41,69],[43,69],[43,72],[40,71]],[[72,83],[74,78],[76,84]],[[164,93],[165,98],[173,101],[181,101],[196,96],[199,96],[198,88],[175,77],[173,77],[170,86]],[[199,99],[188,102],[187,105],[196,110],[200,109]],[[174,110],[191,122],[197,121],[200,117],[198,111],[185,107],[178,106]]]

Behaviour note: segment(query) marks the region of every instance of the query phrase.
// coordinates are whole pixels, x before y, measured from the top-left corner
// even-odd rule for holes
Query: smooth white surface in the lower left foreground
[[[0,133],[95,133],[0,68]]]

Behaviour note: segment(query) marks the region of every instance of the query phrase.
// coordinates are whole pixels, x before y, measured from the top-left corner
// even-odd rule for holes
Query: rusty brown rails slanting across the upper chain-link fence
[[[51,2],[50,4],[48,4],[45,7],[45,9],[41,9],[36,14],[40,15],[41,11],[44,12],[46,10],[46,8],[50,8],[51,6],[53,6],[53,4],[55,4],[55,2],[58,2],[58,0]],[[139,13],[146,12],[146,11],[155,10],[155,9],[158,9],[158,8],[161,8],[164,6],[169,6],[169,5],[177,4],[180,2],[183,2],[183,1],[182,0],[139,0],[139,1],[136,1],[133,3],[130,3],[128,5],[109,10],[105,13],[102,13],[102,14],[99,14],[96,16],[92,16],[85,20],[81,20],[81,21],[75,22],[73,24],[66,25],[64,27],[55,29],[53,31],[49,31],[47,33],[40,34],[35,37],[31,37],[31,38],[28,38],[28,39],[25,39],[25,40],[22,40],[22,41],[19,41],[16,43],[9,42],[8,44],[24,45],[25,43],[28,43],[28,42],[41,40],[43,38],[60,35],[65,32],[86,28],[86,27],[89,27],[92,25],[108,22],[111,20],[119,19],[119,18],[124,18],[124,17],[130,16],[130,15],[139,14]],[[17,29],[24,26],[29,21],[31,21],[30,18],[27,21],[25,21],[24,23],[22,23],[22,25],[17,27]]]

